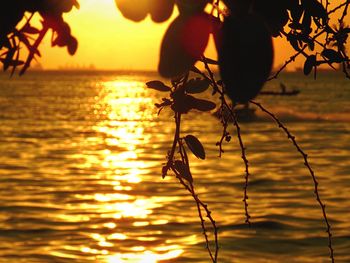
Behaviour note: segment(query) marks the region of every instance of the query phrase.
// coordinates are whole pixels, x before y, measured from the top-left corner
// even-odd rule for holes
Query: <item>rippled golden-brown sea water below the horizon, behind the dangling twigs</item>
[[[167,94],[155,73],[28,73],[0,77],[0,262],[210,262],[195,202],[161,178],[171,147]],[[256,100],[296,136],[319,181],[336,262],[350,262],[350,82],[285,74],[301,92]],[[194,185],[219,228],[218,262],[330,262],[322,212],[300,154],[257,110],[241,123],[250,163],[252,226],[245,224],[244,164],[234,128],[210,113],[183,118],[203,143],[190,156]],[[209,229],[210,230],[210,229]],[[212,239],[212,235],[209,235]]]

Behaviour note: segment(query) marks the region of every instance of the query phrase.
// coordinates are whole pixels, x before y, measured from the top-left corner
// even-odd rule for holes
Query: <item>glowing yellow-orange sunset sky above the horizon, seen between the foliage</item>
[[[170,20],[163,24],[155,24],[148,17],[141,23],[135,23],[122,17],[115,7],[114,0],[79,2],[79,10],[75,9],[65,15],[73,35],[79,40],[76,55],[71,57],[63,48],[51,48],[49,34],[40,48],[43,57],[39,62],[44,68],[87,67],[93,64],[98,69],[157,69],[162,35]],[[287,60],[292,52],[293,49],[289,45],[277,39],[275,66]],[[206,54],[215,58],[213,44],[209,45]],[[292,68],[301,65],[302,61],[297,61]]]

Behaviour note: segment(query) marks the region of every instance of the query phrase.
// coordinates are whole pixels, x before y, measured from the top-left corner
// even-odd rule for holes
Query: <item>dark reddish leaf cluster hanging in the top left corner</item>
[[[0,9],[0,61],[4,70],[12,67],[12,74],[21,67],[23,74],[35,57],[40,57],[39,45],[49,29],[52,30],[52,46],[67,47],[70,55],[78,48],[77,39],[71,34],[70,26],[64,21],[63,13],[70,12],[76,0],[5,0]],[[35,13],[41,17],[41,28],[31,25]],[[29,17],[28,17],[29,16]],[[24,26],[17,25],[25,19]],[[24,46],[29,55],[25,61],[20,58]]]

